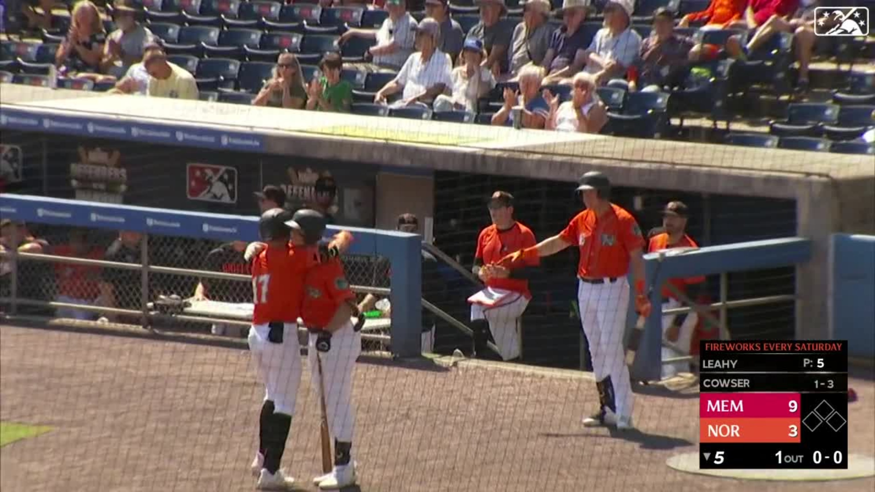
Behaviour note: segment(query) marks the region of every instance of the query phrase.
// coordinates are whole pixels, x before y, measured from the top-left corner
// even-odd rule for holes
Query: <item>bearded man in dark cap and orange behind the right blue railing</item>
[[[662,210],[662,227],[665,232],[654,235],[650,238],[648,244],[648,253],[655,253],[660,250],[669,250],[672,248],[698,248],[698,244],[686,235],[687,218],[689,217],[689,209],[683,201],[669,201]],[[683,292],[691,299],[696,299],[699,287],[703,285],[704,277],[691,278],[671,278],[669,283],[678,291]],[[674,309],[682,305],[681,299],[677,299],[677,295],[668,286],[662,287],[662,310]],[[662,316],[662,336],[666,341],[672,344],[677,344],[678,340],[686,341],[677,347],[690,347],[690,336],[696,327],[696,313],[668,314]],[[683,336],[682,335],[683,330]],[[662,358],[679,357],[689,355],[688,350],[679,353],[673,348],[663,347]],[[687,372],[690,370],[690,364],[686,362],[673,363],[662,366],[662,376],[674,376],[677,372]]]

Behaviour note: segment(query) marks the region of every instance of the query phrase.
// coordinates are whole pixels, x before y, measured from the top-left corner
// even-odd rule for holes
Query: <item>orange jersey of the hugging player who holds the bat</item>
[[[338,258],[313,266],[304,278],[301,319],[308,328],[324,328],[344,302],[355,299]]]

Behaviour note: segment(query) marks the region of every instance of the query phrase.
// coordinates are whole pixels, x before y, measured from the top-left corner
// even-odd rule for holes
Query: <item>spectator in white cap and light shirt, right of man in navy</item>
[[[610,0],[605,5],[605,27],[596,32],[586,50],[584,71],[593,74],[597,86],[626,74],[638,60],[641,35],[632,29],[634,0]]]

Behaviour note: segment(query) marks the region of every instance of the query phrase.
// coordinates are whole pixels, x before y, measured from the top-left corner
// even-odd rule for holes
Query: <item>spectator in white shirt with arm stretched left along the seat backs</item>
[[[376,39],[376,46],[367,50],[374,57],[374,65],[397,70],[413,53],[416,19],[407,11],[404,0],[386,0],[386,10],[388,18],[379,30],[350,29],[340,35],[339,43],[342,45],[353,36]]]

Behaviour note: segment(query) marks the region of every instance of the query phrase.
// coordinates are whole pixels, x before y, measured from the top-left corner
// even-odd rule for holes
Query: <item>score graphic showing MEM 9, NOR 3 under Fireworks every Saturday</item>
[[[699,467],[848,467],[847,341],[701,341]]]

